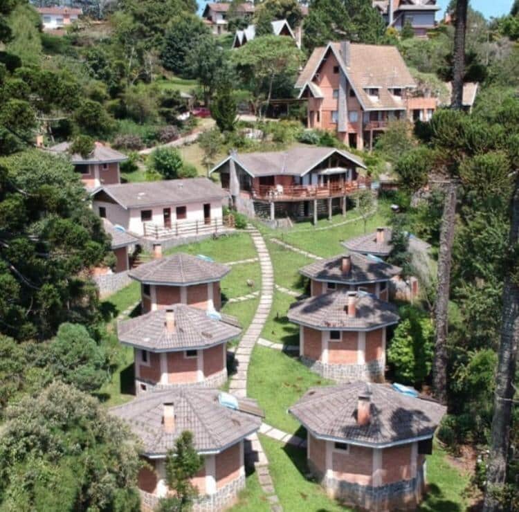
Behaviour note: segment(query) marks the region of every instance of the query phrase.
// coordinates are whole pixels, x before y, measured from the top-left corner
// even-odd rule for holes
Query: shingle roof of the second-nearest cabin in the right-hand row
[[[397,308],[370,293],[357,292],[356,315],[348,316],[349,293],[338,290],[291,304],[288,318],[322,331],[372,331],[399,321]]]

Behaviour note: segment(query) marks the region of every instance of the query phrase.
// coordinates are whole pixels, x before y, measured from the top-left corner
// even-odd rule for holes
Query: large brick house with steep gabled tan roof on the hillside
[[[395,46],[329,43],[316,48],[295,87],[307,98],[307,126],[372,149],[392,120],[428,120],[437,98],[415,97],[416,83]]]

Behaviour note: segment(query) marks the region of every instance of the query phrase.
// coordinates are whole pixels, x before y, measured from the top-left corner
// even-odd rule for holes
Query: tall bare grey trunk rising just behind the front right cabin
[[[453,250],[454,228],[456,222],[457,185],[449,183],[441,217],[439,234],[438,288],[436,294],[435,321],[436,343],[432,377],[435,397],[441,403],[447,402],[447,333],[448,333],[448,298],[450,294],[450,264]]]

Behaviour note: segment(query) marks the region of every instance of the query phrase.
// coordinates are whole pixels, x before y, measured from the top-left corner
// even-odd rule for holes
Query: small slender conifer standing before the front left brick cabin
[[[192,477],[203,467],[203,456],[194,449],[193,435],[184,430],[175,441],[174,450],[167,452],[166,482],[174,491],[174,496],[163,498],[159,503],[161,512],[189,511],[198,495],[198,489],[191,483]]]

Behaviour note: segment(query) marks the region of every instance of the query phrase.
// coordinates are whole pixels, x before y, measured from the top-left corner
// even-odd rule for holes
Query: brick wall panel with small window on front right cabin
[[[332,445],[333,446],[333,445]],[[349,451],[334,450],[331,455],[334,477],[352,484],[370,485],[373,473],[373,450],[363,446],[349,446]]]

